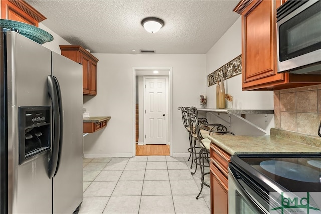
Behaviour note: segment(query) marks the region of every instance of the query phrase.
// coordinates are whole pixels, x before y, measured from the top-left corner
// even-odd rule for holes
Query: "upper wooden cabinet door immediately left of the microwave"
[[[243,89],[285,80],[285,74],[278,74],[276,67],[278,6],[280,1],[253,1],[242,13]]]

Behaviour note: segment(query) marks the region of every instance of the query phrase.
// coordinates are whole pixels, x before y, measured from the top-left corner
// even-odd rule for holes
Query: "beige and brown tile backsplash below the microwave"
[[[318,136],[321,85],[274,91],[275,128]]]

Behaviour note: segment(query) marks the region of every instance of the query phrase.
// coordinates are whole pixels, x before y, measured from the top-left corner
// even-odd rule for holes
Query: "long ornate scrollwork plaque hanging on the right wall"
[[[230,62],[223,65],[221,68],[207,75],[207,86],[214,85],[220,80],[221,76],[226,80],[235,75],[242,73],[242,58],[241,55],[234,58]]]

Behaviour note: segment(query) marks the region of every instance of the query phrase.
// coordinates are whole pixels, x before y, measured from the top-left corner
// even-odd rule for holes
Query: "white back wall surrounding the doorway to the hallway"
[[[179,106],[198,106],[205,93],[205,55],[94,54],[97,65],[97,96],[84,96],[91,116],[111,116],[107,127],[84,137],[84,156],[131,156],[132,67],[173,69],[173,155],[187,154],[188,134]],[[135,98],[134,98],[135,99]]]

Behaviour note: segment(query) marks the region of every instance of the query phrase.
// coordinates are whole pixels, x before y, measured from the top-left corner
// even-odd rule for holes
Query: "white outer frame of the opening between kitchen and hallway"
[[[152,71],[165,71],[168,75],[153,75]],[[172,67],[132,67],[132,156],[136,156],[136,74],[140,72],[149,72],[148,75],[141,76],[168,76],[168,142],[166,144],[170,144],[170,156],[173,156],[173,116],[172,116],[172,88],[173,88],[173,71]]]

